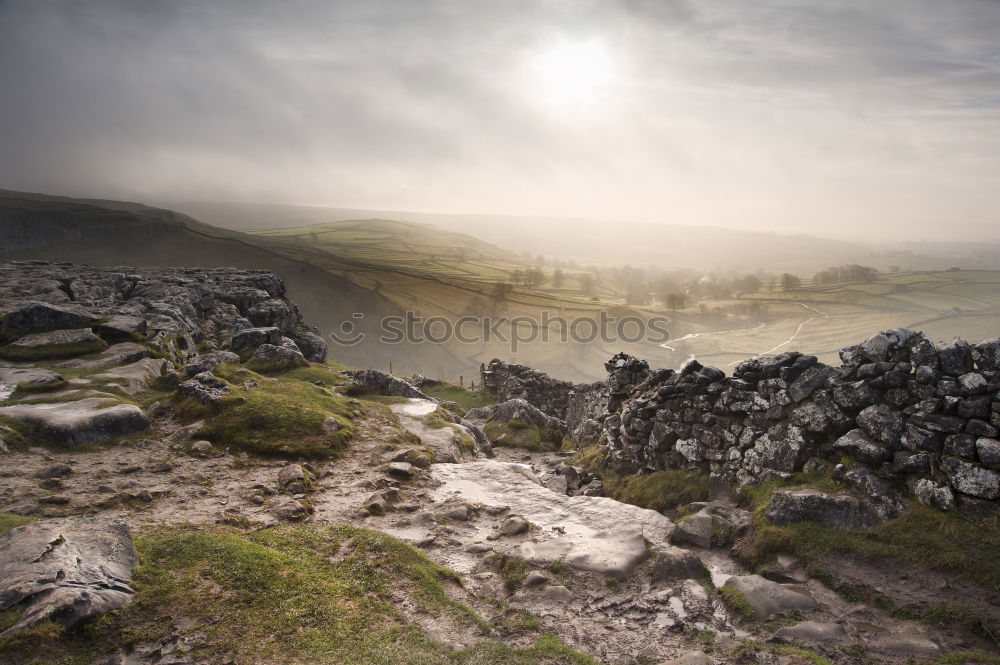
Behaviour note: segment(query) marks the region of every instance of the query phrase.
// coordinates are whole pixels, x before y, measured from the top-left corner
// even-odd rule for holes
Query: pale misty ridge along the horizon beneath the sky
[[[657,265],[696,270],[812,274],[831,265],[863,263],[885,270],[1000,268],[1000,244],[979,242],[846,242],[810,235],[677,224],[597,222],[556,217],[439,214],[273,203],[171,202],[198,219],[241,231],[282,229],[357,219],[433,224],[523,253],[602,265]]]

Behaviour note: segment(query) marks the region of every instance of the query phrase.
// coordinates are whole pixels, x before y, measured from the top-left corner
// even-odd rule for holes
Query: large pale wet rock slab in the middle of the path
[[[537,526],[531,540],[521,545],[522,555],[537,563],[562,560],[581,570],[628,575],[646,556],[643,538],[662,543],[674,526],[655,510],[553,492],[524,464],[434,464],[431,474],[442,483],[435,499],[509,506],[512,515]]]

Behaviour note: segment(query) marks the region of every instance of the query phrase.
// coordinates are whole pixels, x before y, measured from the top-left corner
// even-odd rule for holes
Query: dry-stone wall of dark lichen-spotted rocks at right
[[[956,499],[970,509],[996,506],[1000,340],[938,346],[898,329],[840,355],[840,367],[796,352],[754,358],[727,377],[694,360],[676,372],[649,371],[619,354],[602,387],[565,390],[563,413],[574,435],[583,423],[602,423],[600,441],[624,472],[698,468],[746,484],[787,477],[811,459],[849,458],[837,473],[877,499],[877,517],[899,508],[892,487],[904,484],[944,509]],[[490,363],[494,375],[523,373],[502,365]],[[558,389],[542,378],[534,384]],[[559,399],[547,394],[546,402]]]

